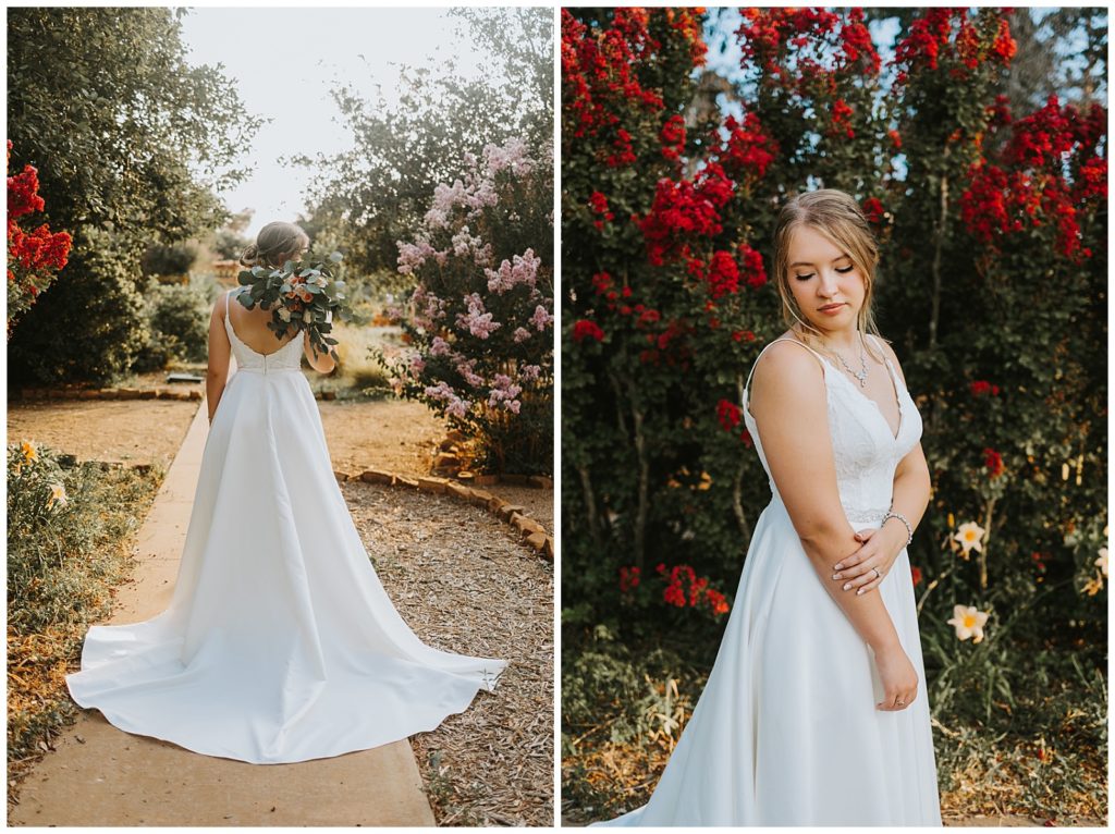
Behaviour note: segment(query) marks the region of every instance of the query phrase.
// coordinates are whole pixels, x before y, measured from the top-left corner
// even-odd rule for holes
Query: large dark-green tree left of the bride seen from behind
[[[65,279],[12,334],[16,379],[126,370],[145,338],[139,255],[217,225],[224,212],[214,191],[245,174],[233,163],[261,120],[219,68],[186,61],[184,13],[8,10],[12,164],[39,168],[48,220],[75,239]],[[108,262],[107,251],[119,260]]]

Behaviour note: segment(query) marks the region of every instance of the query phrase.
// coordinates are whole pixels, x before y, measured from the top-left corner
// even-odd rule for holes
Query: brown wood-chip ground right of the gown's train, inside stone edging
[[[553,570],[485,510],[345,484],[385,588],[432,646],[511,661],[495,692],[411,738],[439,825],[553,825]]]

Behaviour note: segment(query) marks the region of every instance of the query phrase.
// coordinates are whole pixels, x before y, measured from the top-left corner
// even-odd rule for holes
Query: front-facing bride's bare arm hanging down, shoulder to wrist
[[[860,543],[840,503],[828,431],[824,370],[805,348],[774,345],[755,368],[748,403],[770,474],[828,595],[876,652],[899,646],[898,631],[878,593],[843,593],[833,566]]]

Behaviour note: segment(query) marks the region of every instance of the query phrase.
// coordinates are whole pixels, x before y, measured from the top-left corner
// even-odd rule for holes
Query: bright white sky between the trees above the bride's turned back
[[[332,89],[351,84],[371,101],[379,85],[392,101],[404,65],[436,68],[453,55],[471,71],[469,45],[456,33],[462,25],[435,8],[192,8],[182,21],[188,60],[223,64],[248,111],[271,119],[240,163],[253,173],[221,195],[233,212],[255,210],[248,235],[306,212],[313,172],[280,157],[351,147]]]

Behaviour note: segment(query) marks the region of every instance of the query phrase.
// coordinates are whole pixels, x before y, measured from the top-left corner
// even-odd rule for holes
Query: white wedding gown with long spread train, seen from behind
[[[91,627],[70,695],[128,733],[254,764],[434,729],[492,690],[505,661],[425,646],[396,612],[333,476],[302,338],[264,356],[227,313],[225,330],[237,369],[171,605]]]

